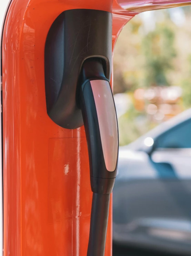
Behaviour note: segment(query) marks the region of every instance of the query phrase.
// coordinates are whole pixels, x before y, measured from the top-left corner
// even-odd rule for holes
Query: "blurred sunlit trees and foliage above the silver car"
[[[143,12],[114,50],[120,145],[191,107],[191,7]]]

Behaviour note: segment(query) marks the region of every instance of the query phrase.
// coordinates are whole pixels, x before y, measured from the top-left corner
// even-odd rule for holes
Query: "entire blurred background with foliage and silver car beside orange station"
[[[143,12],[114,50],[113,254],[191,255],[191,7]]]

